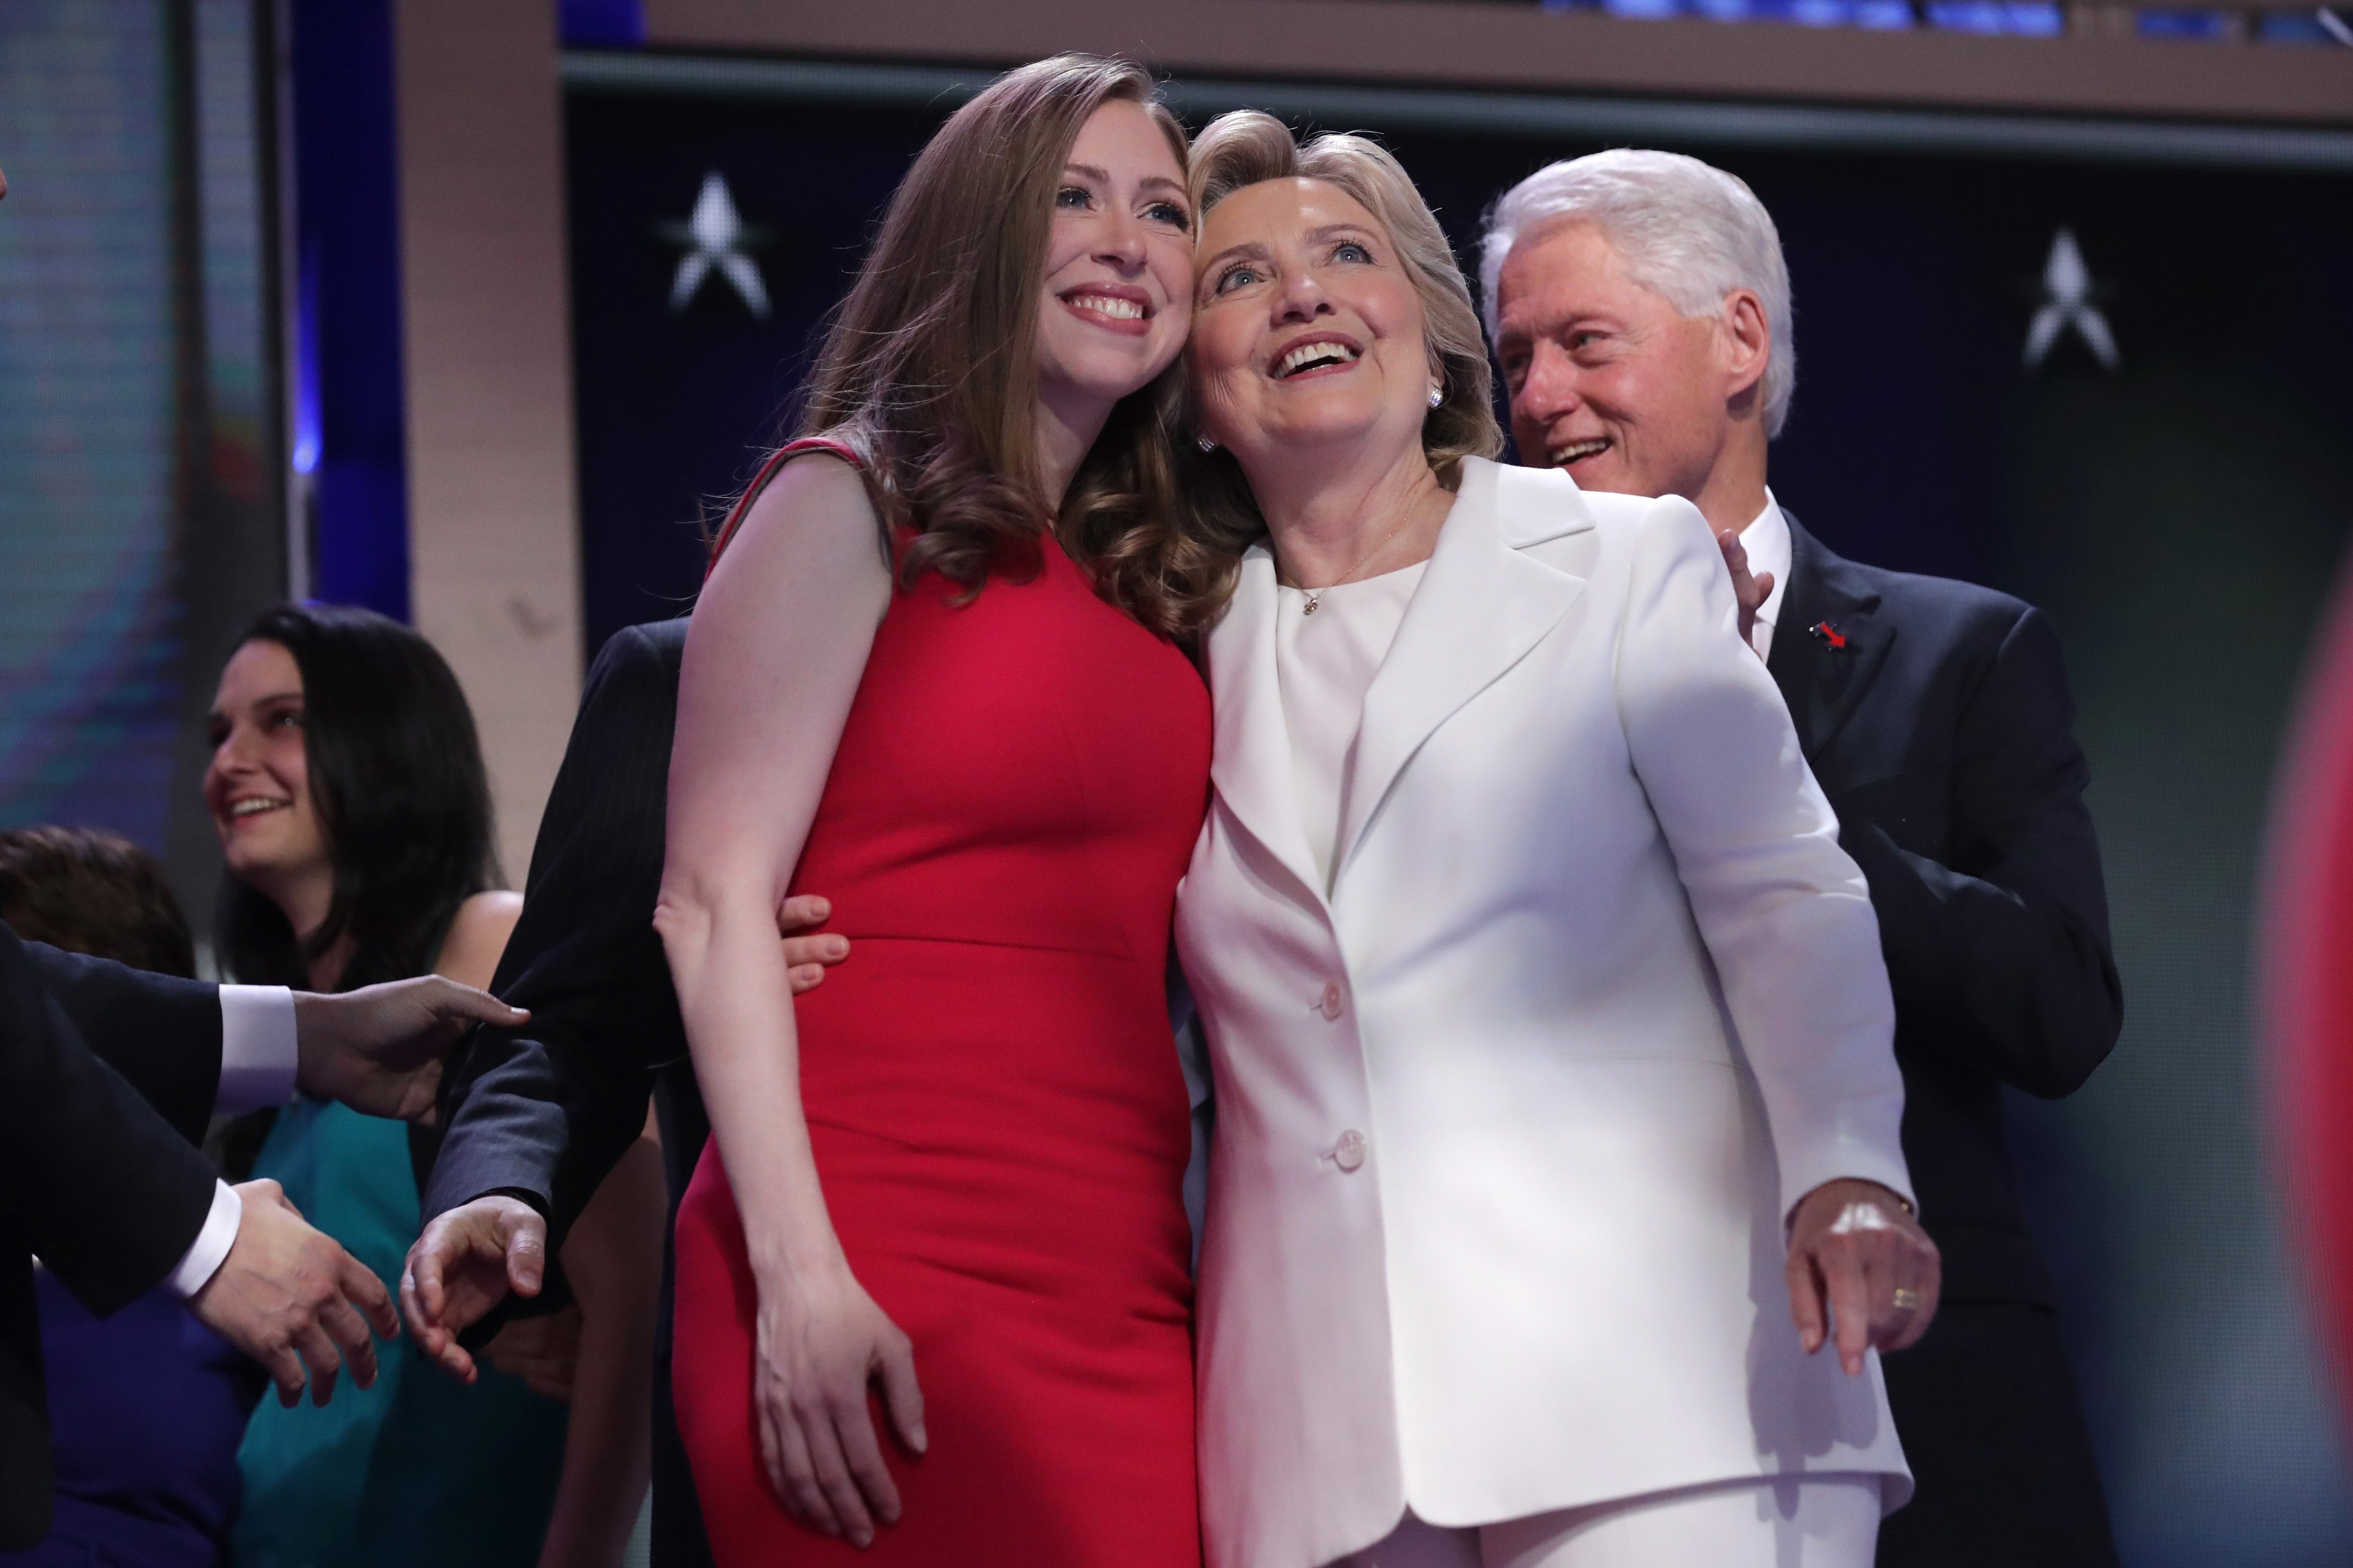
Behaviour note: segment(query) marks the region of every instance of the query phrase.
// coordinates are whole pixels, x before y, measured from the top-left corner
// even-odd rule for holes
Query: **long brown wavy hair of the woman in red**
[[[1059,508],[1038,475],[1038,301],[1054,193],[1087,115],[1111,101],[1139,103],[1186,169],[1184,127],[1151,75],[1122,59],[1021,66],[948,118],[833,313],[798,435],[866,456],[882,527],[915,531],[899,552],[901,585],[927,571],[967,592],[988,576],[1026,581],[1052,527],[1104,599],[1174,637],[1224,599],[1228,576],[1181,531],[1174,505],[1181,360],[1111,411]]]

